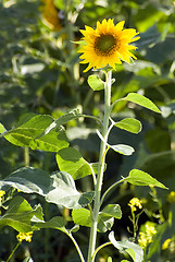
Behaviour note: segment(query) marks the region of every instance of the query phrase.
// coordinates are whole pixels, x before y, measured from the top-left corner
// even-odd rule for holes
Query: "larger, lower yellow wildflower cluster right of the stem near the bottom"
[[[153,235],[157,234],[157,229],[151,224],[145,225],[145,231],[139,233],[139,239],[138,243],[142,249],[146,249],[146,247],[152,242]]]

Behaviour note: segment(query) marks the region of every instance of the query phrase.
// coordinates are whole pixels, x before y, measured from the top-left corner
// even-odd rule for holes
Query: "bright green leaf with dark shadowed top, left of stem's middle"
[[[57,163],[60,170],[68,172],[74,180],[91,174],[89,164],[82,157],[77,150],[72,147],[59,151]]]

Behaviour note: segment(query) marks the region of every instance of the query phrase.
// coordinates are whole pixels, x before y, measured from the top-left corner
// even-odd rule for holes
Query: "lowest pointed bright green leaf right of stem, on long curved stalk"
[[[159,182],[155,178],[152,178],[149,174],[139,169],[133,169],[129,176],[125,178],[125,181],[135,186],[150,186],[162,189],[167,189],[163,183]]]

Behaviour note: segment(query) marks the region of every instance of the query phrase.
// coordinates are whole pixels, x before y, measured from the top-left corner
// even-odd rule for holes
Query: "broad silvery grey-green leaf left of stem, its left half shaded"
[[[16,188],[25,193],[38,193],[48,202],[67,209],[80,209],[93,199],[93,192],[79,193],[72,176],[62,171],[53,172],[49,177],[40,169],[25,167],[0,181],[0,187],[4,186]]]

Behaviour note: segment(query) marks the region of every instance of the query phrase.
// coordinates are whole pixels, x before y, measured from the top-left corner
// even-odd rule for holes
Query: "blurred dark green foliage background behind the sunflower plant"
[[[109,200],[120,203],[125,213],[114,227],[117,237],[122,238],[125,235],[132,237],[127,230],[127,226],[132,226],[128,201],[133,196],[147,199],[146,214],[139,223],[157,223],[160,227],[157,241],[162,245],[165,239],[175,237],[175,202],[170,203],[166,199],[171,191],[175,191],[175,3],[171,0],[55,0],[59,29],[50,28],[45,23],[41,4],[38,0],[2,0],[0,3],[0,122],[9,130],[21,126],[34,114],[50,115],[57,119],[75,107],[86,115],[100,117],[103,93],[93,92],[88,86],[87,79],[91,72],[83,73],[85,67],[79,66],[77,46],[71,40],[80,39],[79,28],[85,25],[93,27],[97,21],[108,17],[114,19],[115,23],[125,20],[125,27],[140,32],[138,60],[134,64],[116,67],[112,102],[130,92],[138,92],[154,102],[162,115],[132,103],[128,107],[124,103],[115,106],[114,120],[134,117],[141,121],[143,129],[137,135],[120,129],[112,131],[112,144],[127,143],[136,152],[129,157],[116,153],[108,155],[104,189],[121,176],[127,176],[132,168],[139,168],[163,182],[170,191],[154,192],[149,188],[123,184],[120,192],[114,191],[107,199],[107,203]],[[89,163],[98,160],[97,127],[96,121],[90,119],[74,119],[65,124],[68,142]],[[28,159],[26,148],[0,140],[1,180],[27,165],[49,172],[58,170],[53,153],[29,150]],[[77,188],[90,190],[91,179],[86,177],[78,180]],[[41,203],[46,221],[55,214],[71,219],[68,210],[45,203],[37,194],[25,198],[32,206]],[[171,216],[172,224],[167,228],[165,223]],[[85,229],[77,233],[83,250],[87,248],[86,235]],[[1,230],[2,261],[14,248],[15,236],[16,233],[9,227]],[[104,234],[99,241],[103,242],[105,238]],[[29,258],[29,251],[34,261],[77,261],[76,251],[73,246],[70,249],[71,245],[62,233],[43,229],[34,235],[32,243],[21,247],[14,261],[27,261],[25,258]],[[101,257],[105,259],[112,252],[112,249],[105,248]],[[175,260],[171,249],[161,251],[160,248],[153,250],[150,247],[150,253],[151,261],[159,258],[162,258],[161,261],[166,261],[166,258]],[[116,261],[117,258],[118,254]]]

